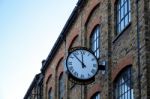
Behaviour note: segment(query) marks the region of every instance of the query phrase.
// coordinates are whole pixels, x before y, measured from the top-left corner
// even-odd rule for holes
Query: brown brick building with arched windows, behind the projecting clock
[[[105,62],[88,85],[66,73],[68,51],[77,46]],[[79,0],[41,73],[42,99],[149,99],[150,1]]]

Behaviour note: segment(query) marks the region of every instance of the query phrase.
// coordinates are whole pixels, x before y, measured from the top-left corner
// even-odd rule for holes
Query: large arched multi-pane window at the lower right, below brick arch
[[[115,83],[115,99],[134,99],[131,81],[131,67],[123,71]]]

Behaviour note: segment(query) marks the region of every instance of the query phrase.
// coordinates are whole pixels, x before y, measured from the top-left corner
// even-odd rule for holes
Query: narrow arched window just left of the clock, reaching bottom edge
[[[64,96],[64,77],[63,74],[61,74],[59,78],[59,99],[63,99]]]

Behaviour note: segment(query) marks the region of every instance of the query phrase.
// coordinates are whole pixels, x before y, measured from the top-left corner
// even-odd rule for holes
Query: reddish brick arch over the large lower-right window
[[[131,55],[127,55],[121,60],[119,60],[118,64],[112,69],[112,81],[114,81],[119,73],[124,70],[128,66],[132,66],[133,57]]]

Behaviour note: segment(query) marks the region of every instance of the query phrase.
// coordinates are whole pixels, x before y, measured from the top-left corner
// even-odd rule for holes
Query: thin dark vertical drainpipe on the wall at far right
[[[137,62],[138,62],[138,90],[139,99],[141,99],[141,59],[140,59],[140,31],[139,31],[139,0],[136,0],[136,18],[137,18]]]

